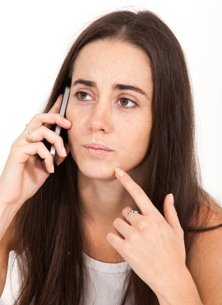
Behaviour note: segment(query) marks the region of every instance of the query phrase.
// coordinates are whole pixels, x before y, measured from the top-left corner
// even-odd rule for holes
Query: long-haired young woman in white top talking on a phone
[[[114,11],[84,29],[12,144],[0,201],[14,304],[219,304],[222,210],[202,187],[182,48],[156,14]]]

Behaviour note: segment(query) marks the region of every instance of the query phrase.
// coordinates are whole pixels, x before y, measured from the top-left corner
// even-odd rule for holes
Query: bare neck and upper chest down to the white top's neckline
[[[109,232],[119,235],[113,221],[121,218],[126,222],[122,210],[126,206],[135,208],[137,205],[115,173],[106,173],[102,177],[98,175],[96,178],[94,172],[92,174],[93,177],[89,177],[89,173],[86,176],[78,168],[78,197],[83,211],[83,252],[101,262],[120,263],[124,259],[108,243],[106,236]],[[134,168],[128,174],[142,187],[141,169]]]

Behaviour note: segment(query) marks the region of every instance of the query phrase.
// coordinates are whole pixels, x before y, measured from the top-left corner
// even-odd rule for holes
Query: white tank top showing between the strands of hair
[[[12,251],[13,252],[13,251]],[[12,265],[12,252],[9,254],[9,266]],[[124,287],[123,281],[126,271],[131,269],[127,262],[118,264],[103,263],[95,260],[84,252],[85,264],[89,271],[90,280],[89,298],[84,305],[115,305],[121,297]],[[7,273],[6,285],[0,298],[0,305],[13,305],[14,297],[19,289],[19,276],[17,260],[12,268],[12,289],[9,281],[9,271]],[[14,297],[13,297],[14,296]]]

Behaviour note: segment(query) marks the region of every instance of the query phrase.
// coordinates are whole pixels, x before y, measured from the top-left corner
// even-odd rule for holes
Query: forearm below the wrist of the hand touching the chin
[[[171,287],[156,294],[160,305],[202,305],[195,282],[188,269],[181,273]]]

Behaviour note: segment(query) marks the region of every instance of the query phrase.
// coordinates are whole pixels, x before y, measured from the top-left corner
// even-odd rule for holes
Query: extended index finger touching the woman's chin
[[[137,206],[142,212],[142,215],[147,215],[150,211],[156,211],[156,207],[152,204],[149,197],[143,191],[143,189],[138,186],[138,184],[131,178],[128,173],[123,172],[123,176],[118,175],[118,168],[115,169],[116,177],[121,182],[123,187],[130,193],[133,197],[134,201],[136,202]]]

